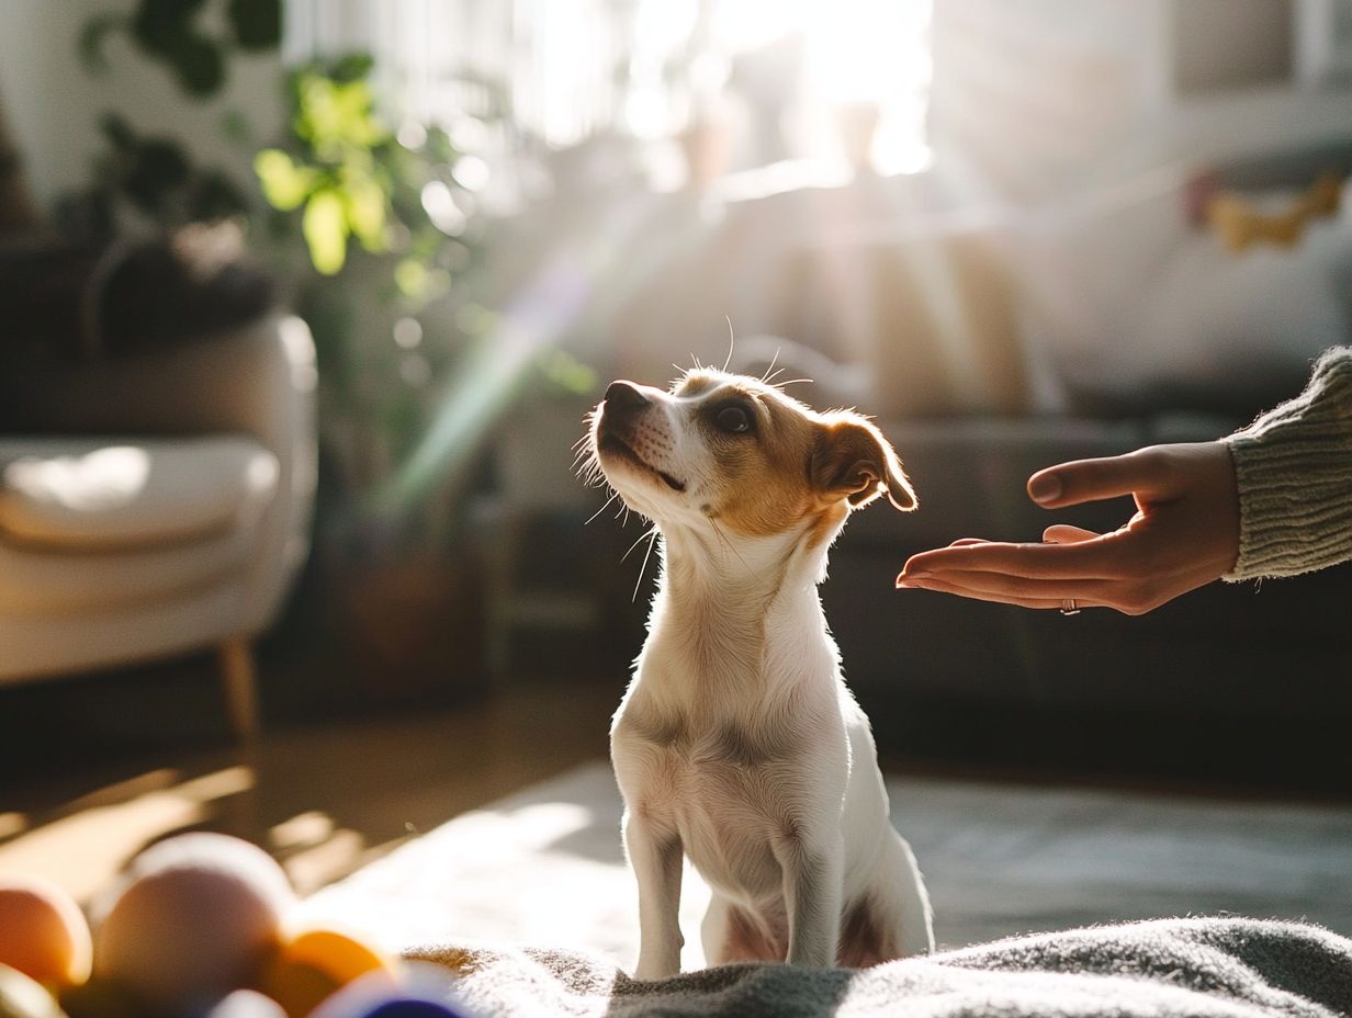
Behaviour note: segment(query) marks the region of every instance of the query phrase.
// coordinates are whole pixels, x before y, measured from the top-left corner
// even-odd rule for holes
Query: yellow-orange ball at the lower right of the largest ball
[[[260,988],[291,1018],[310,1014],[356,979],[395,987],[396,967],[380,949],[341,930],[314,926],[287,937],[264,968]]]

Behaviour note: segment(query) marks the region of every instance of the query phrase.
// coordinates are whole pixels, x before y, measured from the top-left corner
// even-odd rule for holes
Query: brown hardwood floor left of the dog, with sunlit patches
[[[265,730],[250,748],[157,749],[0,785],[0,872],[80,900],[145,845],[247,838],[301,894],[446,819],[606,756],[619,689],[530,684],[462,707]]]

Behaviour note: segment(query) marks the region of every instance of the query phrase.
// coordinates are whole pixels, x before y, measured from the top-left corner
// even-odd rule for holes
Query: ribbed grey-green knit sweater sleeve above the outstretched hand
[[[1224,579],[1352,558],[1352,347],[1325,353],[1305,392],[1221,441],[1240,493],[1240,556]]]

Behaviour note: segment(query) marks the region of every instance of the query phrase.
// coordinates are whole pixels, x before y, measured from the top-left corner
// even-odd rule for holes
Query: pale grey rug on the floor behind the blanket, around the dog
[[[1352,934],[1352,807],[891,779],[941,946],[1169,915],[1307,919]],[[391,949],[637,950],[619,796],[598,762],[458,817],[315,895]],[[687,873],[685,969],[707,891]]]

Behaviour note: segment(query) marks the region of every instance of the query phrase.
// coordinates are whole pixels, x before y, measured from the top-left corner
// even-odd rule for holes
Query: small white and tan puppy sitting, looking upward
[[[638,883],[638,979],[680,971],[683,854],[713,890],[706,960],[864,967],[933,950],[929,895],[892,829],[868,719],[817,585],[846,516],[914,510],[853,411],[695,369],[615,381],[589,466],[660,534],[648,639],[611,726]]]

